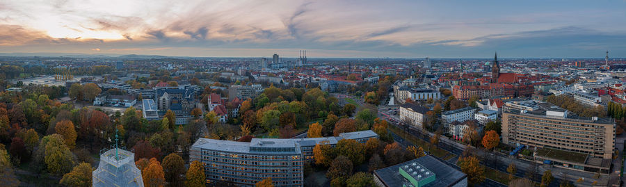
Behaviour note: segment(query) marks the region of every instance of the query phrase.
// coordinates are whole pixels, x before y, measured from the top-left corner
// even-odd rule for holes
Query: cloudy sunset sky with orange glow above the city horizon
[[[626,0],[0,0],[0,53],[626,57]]]

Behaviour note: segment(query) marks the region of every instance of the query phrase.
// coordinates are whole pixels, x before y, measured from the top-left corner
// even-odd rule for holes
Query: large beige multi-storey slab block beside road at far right
[[[535,149],[538,161],[561,168],[610,172],[615,120],[579,117],[548,103],[537,105],[533,111],[504,107],[502,143]]]

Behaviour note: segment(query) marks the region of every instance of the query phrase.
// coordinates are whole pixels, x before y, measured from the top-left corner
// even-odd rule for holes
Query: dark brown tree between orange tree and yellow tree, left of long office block
[[[182,174],[185,172],[185,161],[178,154],[168,154],[163,158],[163,172],[170,186],[182,186]]]

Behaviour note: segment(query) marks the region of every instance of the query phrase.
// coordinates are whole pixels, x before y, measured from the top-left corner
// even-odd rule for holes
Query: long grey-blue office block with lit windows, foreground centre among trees
[[[369,138],[378,135],[358,131],[326,138],[252,138],[250,143],[200,138],[191,146],[190,160],[202,162],[209,184],[255,186],[271,177],[274,186],[303,186],[303,165],[313,161],[316,144],[335,146],[342,139],[364,143]]]

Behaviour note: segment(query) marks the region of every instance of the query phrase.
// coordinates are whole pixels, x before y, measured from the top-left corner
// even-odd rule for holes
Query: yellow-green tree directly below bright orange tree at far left
[[[62,174],[72,170],[74,155],[70,152],[70,148],[67,148],[67,145],[65,145],[63,136],[58,133],[45,136],[42,138],[41,145],[45,147],[44,161],[49,172]]]

